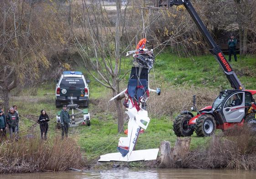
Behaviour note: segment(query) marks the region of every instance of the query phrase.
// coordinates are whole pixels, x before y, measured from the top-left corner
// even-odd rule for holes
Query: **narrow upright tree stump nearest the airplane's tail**
[[[171,144],[169,141],[163,141],[160,146],[161,156],[160,156],[160,167],[171,167],[172,159],[171,159]]]

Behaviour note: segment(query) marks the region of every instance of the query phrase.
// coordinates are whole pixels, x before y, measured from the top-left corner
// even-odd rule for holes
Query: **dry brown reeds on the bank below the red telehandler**
[[[213,136],[207,147],[189,153],[175,167],[204,169],[256,169],[256,136],[248,128],[233,128],[225,136]]]

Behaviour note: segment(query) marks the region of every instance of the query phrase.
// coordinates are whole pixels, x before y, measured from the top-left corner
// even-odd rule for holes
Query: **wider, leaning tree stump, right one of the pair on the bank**
[[[172,158],[175,162],[180,162],[188,156],[191,138],[177,138],[172,152]]]

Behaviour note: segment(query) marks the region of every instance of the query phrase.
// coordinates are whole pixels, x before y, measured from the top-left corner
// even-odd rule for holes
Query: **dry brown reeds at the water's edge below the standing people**
[[[64,171],[84,164],[80,147],[72,138],[7,140],[0,145],[0,174]]]

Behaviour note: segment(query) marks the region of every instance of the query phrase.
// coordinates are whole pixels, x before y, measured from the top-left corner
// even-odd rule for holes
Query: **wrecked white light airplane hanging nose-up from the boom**
[[[145,49],[146,39],[142,39],[136,51],[129,51],[127,55],[134,53],[133,63],[135,64],[131,70],[131,77],[128,82],[128,87],[120,92],[115,97],[125,94],[124,105],[129,116],[128,135],[119,139],[117,150],[118,153],[108,153],[101,155],[98,161],[139,161],[139,160],[155,160],[157,159],[158,148],[135,150],[138,136],[141,128],[146,130],[150,122],[148,113],[145,110],[146,101],[149,97],[149,92],[157,92],[160,95],[161,90],[150,89],[148,86],[148,73],[153,66],[154,56],[153,51]]]

